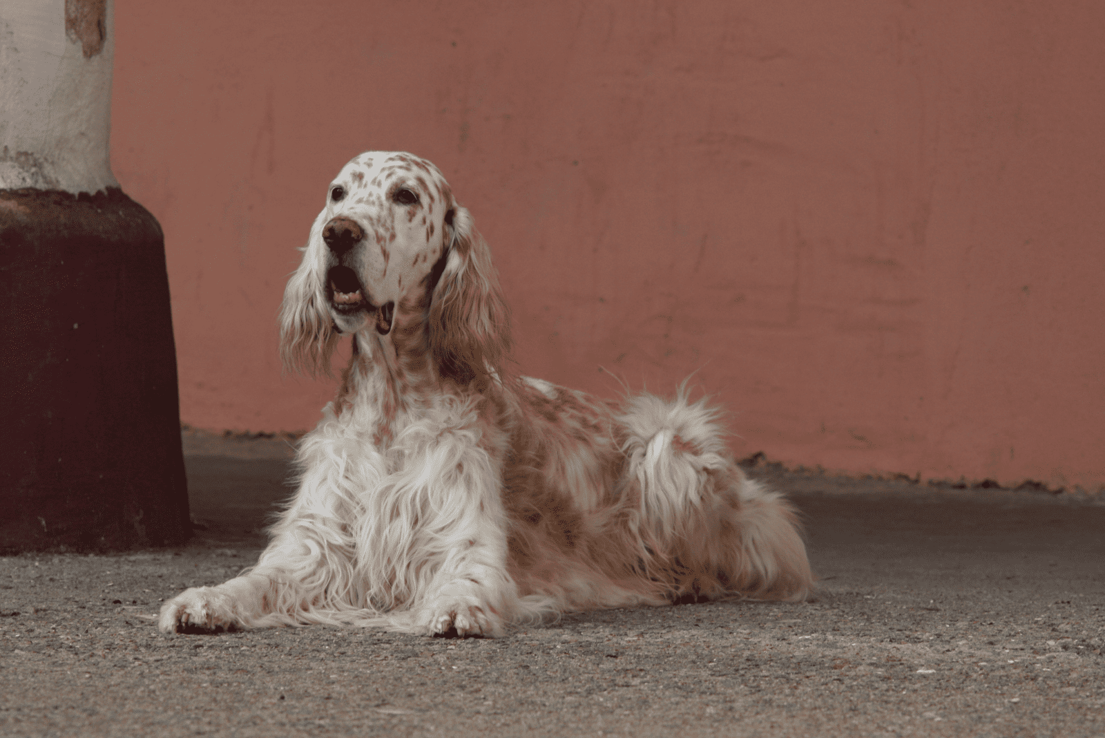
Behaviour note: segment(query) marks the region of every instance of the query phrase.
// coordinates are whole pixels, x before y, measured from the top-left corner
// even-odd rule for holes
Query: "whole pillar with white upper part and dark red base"
[[[110,169],[112,4],[0,6],[0,550],[189,534],[165,243]]]

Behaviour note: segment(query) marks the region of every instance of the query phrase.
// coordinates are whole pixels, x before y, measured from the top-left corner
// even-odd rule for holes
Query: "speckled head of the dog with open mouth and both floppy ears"
[[[330,182],[281,308],[292,371],[328,373],[341,334],[387,341],[397,312],[427,325],[439,375],[466,382],[509,350],[487,244],[445,178],[410,154],[368,151]]]

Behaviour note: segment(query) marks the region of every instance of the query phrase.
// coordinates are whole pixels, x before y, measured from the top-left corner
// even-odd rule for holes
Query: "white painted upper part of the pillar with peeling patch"
[[[0,3],[0,189],[119,186],[109,152],[114,4]]]

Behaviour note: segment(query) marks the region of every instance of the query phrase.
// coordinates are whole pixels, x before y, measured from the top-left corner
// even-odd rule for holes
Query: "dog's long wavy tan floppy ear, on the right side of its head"
[[[438,372],[461,386],[486,382],[511,352],[511,321],[491,249],[460,205],[445,213],[445,251],[430,298],[430,349]]]

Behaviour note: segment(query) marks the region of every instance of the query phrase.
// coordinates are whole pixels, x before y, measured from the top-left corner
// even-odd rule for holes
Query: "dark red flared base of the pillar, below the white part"
[[[154,217],[118,189],[0,190],[0,550],[190,534]]]

